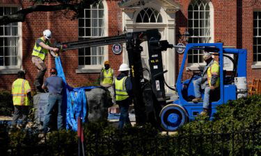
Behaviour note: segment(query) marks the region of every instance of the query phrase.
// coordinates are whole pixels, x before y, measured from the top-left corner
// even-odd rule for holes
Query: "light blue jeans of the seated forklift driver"
[[[198,78],[197,80],[193,81],[194,85],[194,93],[196,98],[201,98],[200,89],[201,89],[201,81],[202,78]],[[209,109],[209,94],[210,94],[210,87],[205,87],[204,89],[204,99],[203,99],[203,108]]]

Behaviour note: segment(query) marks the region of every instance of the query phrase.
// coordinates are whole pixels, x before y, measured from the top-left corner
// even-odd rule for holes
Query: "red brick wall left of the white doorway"
[[[12,4],[13,1],[4,0],[4,4]],[[2,3],[2,2],[0,2]],[[17,3],[18,4],[18,3]],[[22,8],[30,6],[28,1],[22,3]],[[122,33],[122,12],[118,8],[118,1],[107,1],[108,11],[108,33],[118,35]],[[26,71],[26,79],[29,80],[33,88],[33,80],[37,74],[36,68],[31,62],[31,53],[38,37],[42,36],[42,31],[50,29],[52,31],[51,42],[70,42],[78,40],[78,20],[72,20],[72,12],[63,15],[62,12],[33,12],[27,15],[26,21],[22,23],[22,67]],[[122,62],[122,55],[113,55],[111,46],[108,46],[109,61],[113,69],[118,69]],[[78,51],[66,51],[61,54],[63,70],[65,77],[71,86],[79,86],[90,82],[95,82],[99,73],[76,73],[78,69]],[[47,73],[45,78],[49,76],[49,69],[55,67],[54,59],[48,55],[45,59],[47,65]],[[117,71],[117,70],[116,70]],[[16,75],[0,75],[0,89],[10,89],[11,84],[15,80]]]

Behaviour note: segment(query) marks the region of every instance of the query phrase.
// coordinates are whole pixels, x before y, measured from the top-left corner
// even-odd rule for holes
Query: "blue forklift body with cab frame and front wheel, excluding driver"
[[[193,103],[191,101],[191,99],[195,97],[193,80],[200,78],[200,76],[197,73],[193,73],[188,80],[182,80],[189,51],[210,52],[219,58],[220,87],[219,89],[215,89],[211,94],[210,120],[213,119],[213,114],[216,112],[217,106],[223,105],[229,100],[236,100],[247,94],[246,49],[226,49],[223,48],[222,43],[187,44],[176,83],[176,91],[179,98],[173,101],[173,103],[163,107],[159,114],[161,127],[164,128],[164,130],[177,130],[188,121],[193,121],[203,110],[203,102]],[[234,57],[228,54],[232,54]],[[233,64],[233,69],[230,74],[224,70],[224,58],[228,58]],[[204,92],[202,93],[202,97],[203,96]]]

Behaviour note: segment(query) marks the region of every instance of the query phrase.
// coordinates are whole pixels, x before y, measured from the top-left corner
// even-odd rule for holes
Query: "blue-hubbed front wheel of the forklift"
[[[167,131],[174,131],[187,122],[188,115],[183,107],[176,104],[166,105],[160,112],[161,127]]]

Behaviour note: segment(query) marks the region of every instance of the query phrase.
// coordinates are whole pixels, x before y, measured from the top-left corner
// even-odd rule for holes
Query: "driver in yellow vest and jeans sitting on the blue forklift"
[[[195,97],[192,102],[198,103],[201,101],[200,87],[205,90],[203,99],[203,111],[200,115],[209,113],[209,94],[214,89],[219,88],[219,62],[216,62],[210,53],[203,55],[203,60],[207,63],[204,67],[202,78],[193,81]]]

